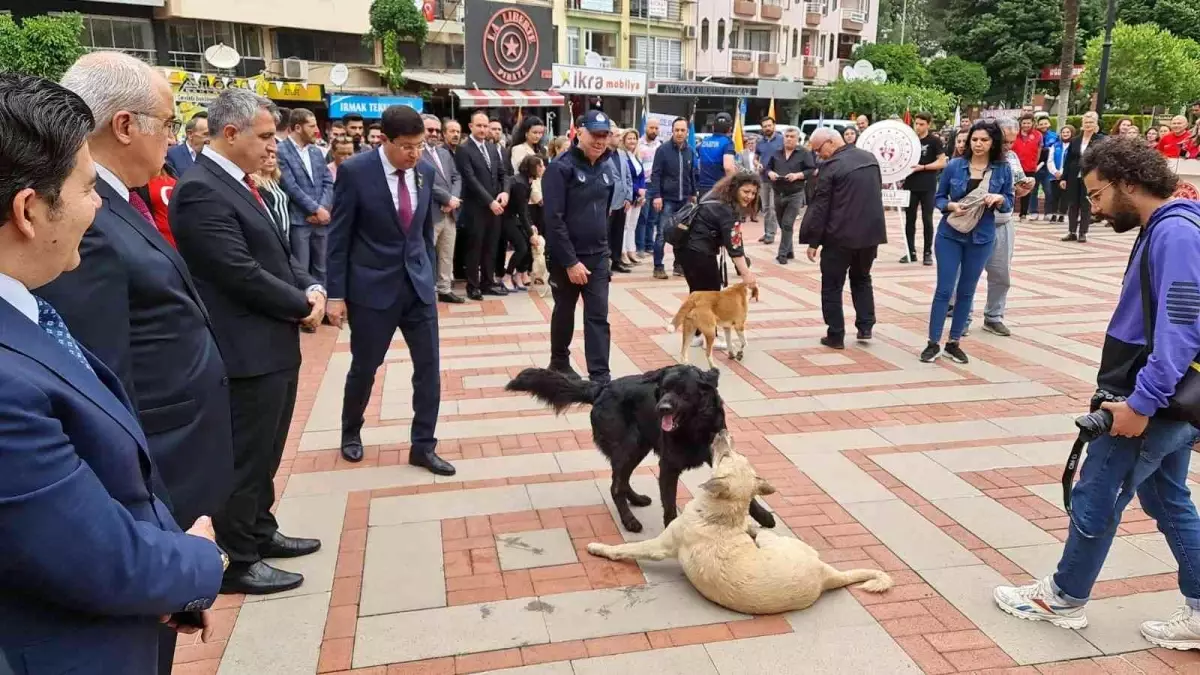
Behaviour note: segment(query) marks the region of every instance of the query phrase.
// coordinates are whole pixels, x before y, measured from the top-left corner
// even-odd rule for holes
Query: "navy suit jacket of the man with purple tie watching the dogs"
[[[329,223],[331,299],[386,310],[400,299],[407,275],[421,301],[434,303],[433,167],[418,162],[412,171],[416,203],[406,237],[379,153],[355,155],[338,167]]]

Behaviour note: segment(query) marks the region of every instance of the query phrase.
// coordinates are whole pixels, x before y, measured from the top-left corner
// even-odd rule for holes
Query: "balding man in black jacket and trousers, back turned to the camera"
[[[883,221],[883,179],[875,155],[846,145],[835,130],[812,132],[812,153],[824,161],[817,189],[800,225],[800,243],[808,244],[809,261],[821,255],[821,313],[828,334],[821,344],[834,350],[846,347],[846,321],[841,291],[850,271],[850,293],[854,301],[854,325],[859,340],[870,340],[875,327],[875,291],[871,264],[880,244],[887,244]]]

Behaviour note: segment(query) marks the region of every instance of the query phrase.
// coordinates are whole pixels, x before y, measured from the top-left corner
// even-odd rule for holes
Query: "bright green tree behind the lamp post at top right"
[[[1084,89],[1099,84],[1103,37],[1087,43],[1084,55]],[[1187,103],[1200,89],[1200,46],[1176,37],[1156,24],[1118,23],[1112,30],[1106,98],[1115,109],[1138,112],[1152,106]]]

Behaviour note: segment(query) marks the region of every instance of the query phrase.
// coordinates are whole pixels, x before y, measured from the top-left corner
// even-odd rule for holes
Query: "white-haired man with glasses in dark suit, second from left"
[[[97,117],[88,147],[103,205],[79,247],[83,263],[38,294],[121,380],[166,489],[158,496],[180,526],[191,527],[229,496],[233,431],[224,362],[204,303],[184,259],[131,191],[158,174],[167,138],[178,130],[170,84],[119,52],[83,56],[62,84]],[[155,121],[139,123],[131,110]],[[166,674],[174,631],[164,629],[162,640],[158,670]]]

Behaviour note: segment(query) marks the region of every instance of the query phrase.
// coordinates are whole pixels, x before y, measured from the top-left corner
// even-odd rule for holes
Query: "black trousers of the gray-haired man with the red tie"
[[[232,565],[262,560],[259,549],[280,527],[271,514],[275,472],[292,425],[299,381],[299,368],[229,378],[233,494],[212,516],[212,528],[217,545],[229,554]]]

